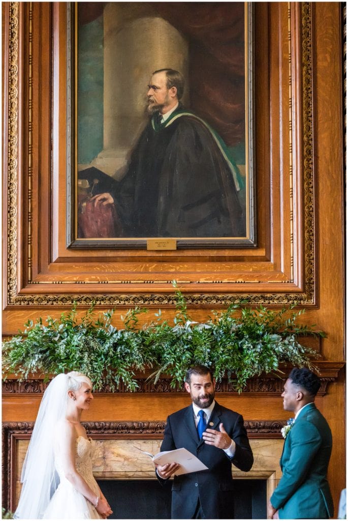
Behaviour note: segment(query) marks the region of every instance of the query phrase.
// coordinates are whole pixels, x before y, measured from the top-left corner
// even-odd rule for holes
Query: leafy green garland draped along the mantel
[[[149,378],[155,382],[161,374],[170,375],[175,387],[182,384],[189,366],[203,364],[213,368],[217,380],[227,376],[241,392],[248,378],[261,373],[280,376],[281,363],[317,370],[312,360],[319,354],[301,345],[298,337],[325,334],[314,326],[295,324],[304,309],[289,313],[294,305],[280,311],[260,306],[252,311],[232,304],[200,323],[189,316],[184,295],[177,289],[175,295],[174,325],[163,320],[159,310],[156,320],[139,327],[139,315],[147,310],[138,307],[121,316],[122,329],[111,324],[114,310],[95,319],[93,306],[80,321],[76,305],[60,320],[30,320],[23,332],[3,343],[5,376],[15,373],[22,380],[31,373],[79,370],[96,390],[108,386],[114,391],[123,382],[135,391],[135,370],[153,368]]]

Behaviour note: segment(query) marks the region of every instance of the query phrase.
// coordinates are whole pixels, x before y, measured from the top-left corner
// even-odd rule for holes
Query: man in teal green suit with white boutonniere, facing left
[[[295,413],[280,458],[282,478],[268,503],[268,519],[328,519],[333,503],[326,479],[332,436],[314,405],[319,378],[309,369],[292,369],[282,393],[285,411]]]

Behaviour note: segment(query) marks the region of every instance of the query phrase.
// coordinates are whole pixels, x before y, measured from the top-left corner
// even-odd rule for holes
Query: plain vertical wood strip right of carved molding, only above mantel
[[[315,9],[318,257],[320,307],[317,319],[330,337],[328,358],[344,358],[344,227],[342,33],[338,3]],[[330,339],[330,340],[329,340]]]

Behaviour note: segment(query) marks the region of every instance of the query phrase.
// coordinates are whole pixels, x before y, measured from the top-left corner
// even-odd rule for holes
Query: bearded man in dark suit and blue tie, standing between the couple
[[[208,367],[190,368],[185,389],[192,404],[168,416],[161,451],[185,448],[208,470],[175,476],[176,463],[157,466],[162,485],[174,474],[172,519],[233,519],[232,463],[243,472],[253,464],[243,418],[215,401]]]

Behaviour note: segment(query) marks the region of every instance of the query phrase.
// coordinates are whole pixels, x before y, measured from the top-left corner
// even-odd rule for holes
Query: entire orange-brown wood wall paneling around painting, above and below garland
[[[342,362],[341,4],[255,3],[257,248],[156,254],[66,249],[66,4],[19,3],[18,19],[8,30],[16,9],[16,4],[3,4],[3,191],[8,195],[3,206],[3,335],[16,333],[28,318],[59,317],[75,297],[81,300],[79,314],[92,297],[102,302],[99,310],[116,303],[117,326],[120,313],[136,302],[149,304],[144,321],[158,308],[171,319],[171,281],[176,279],[190,299],[189,312],[201,321],[242,296],[249,295],[253,305],[297,299],[307,307],[300,321],[327,333],[320,343],[324,360]],[[309,192],[308,172],[313,174]],[[311,277],[313,295],[308,297]],[[333,433],[328,478],[335,514],[345,486],[344,393],[341,371],[317,399]],[[287,418],[280,398],[227,395],[218,400],[246,419]],[[3,420],[32,421],[39,402],[39,396],[3,396]],[[164,419],[186,403],[182,395],[96,396],[88,414],[91,420]]]

